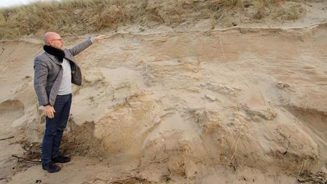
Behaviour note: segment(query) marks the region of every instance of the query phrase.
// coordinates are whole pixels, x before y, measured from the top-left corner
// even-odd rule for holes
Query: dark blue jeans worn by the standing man
[[[57,95],[55,99],[55,118],[46,117],[46,132],[44,132],[42,143],[42,164],[51,161],[51,158],[57,157],[59,153],[62,134],[66,129],[71,109],[71,94]]]

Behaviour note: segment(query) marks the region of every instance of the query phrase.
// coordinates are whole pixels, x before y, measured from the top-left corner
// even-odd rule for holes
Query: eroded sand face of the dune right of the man
[[[319,167],[325,28],[113,36],[78,56],[94,76],[85,74],[74,120],[95,120],[95,136],[114,154],[183,145],[190,157],[225,164]]]

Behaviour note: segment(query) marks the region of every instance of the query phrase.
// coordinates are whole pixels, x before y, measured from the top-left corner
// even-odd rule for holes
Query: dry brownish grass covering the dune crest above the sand
[[[300,2],[281,0],[62,0],[0,9],[0,38],[17,38],[44,30],[86,34],[119,24],[177,25],[211,19],[230,26],[235,20],[296,20],[305,12]],[[282,5],[283,4],[283,5]],[[234,20],[233,20],[234,18]],[[234,24],[235,25],[235,24]]]

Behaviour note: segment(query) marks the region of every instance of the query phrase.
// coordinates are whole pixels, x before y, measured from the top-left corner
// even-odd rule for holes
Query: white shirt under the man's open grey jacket
[[[58,95],[65,95],[71,93],[71,65],[69,61],[64,58],[62,61],[62,83],[60,84]]]

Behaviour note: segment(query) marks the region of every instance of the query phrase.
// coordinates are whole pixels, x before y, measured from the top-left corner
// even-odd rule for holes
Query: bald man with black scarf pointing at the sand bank
[[[81,85],[81,69],[74,56],[104,36],[91,37],[74,48],[64,48],[64,40],[55,32],[44,35],[46,52],[34,59],[34,89],[39,105],[46,113],[46,132],[42,143],[42,168],[53,173],[60,171],[56,162],[66,163],[70,157],[60,155],[62,134],[67,126],[71,108],[71,83]]]

